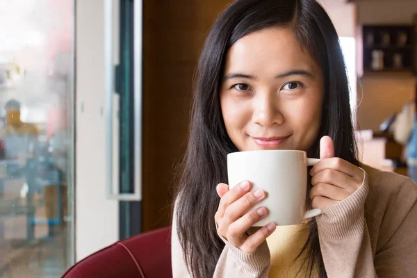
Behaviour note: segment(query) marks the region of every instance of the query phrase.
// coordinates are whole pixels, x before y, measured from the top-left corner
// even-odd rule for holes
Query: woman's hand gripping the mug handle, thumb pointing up
[[[311,205],[325,209],[343,201],[361,187],[364,173],[361,168],[334,157],[333,140],[324,136],[320,140],[320,159],[310,171]]]

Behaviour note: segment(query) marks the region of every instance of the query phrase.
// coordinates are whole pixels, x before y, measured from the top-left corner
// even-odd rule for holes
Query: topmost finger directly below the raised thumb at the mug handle
[[[343,172],[354,178],[363,176],[363,171],[359,167],[338,157],[326,158],[318,161],[318,163],[311,168],[310,174],[313,176],[326,169],[337,170],[338,172]]]

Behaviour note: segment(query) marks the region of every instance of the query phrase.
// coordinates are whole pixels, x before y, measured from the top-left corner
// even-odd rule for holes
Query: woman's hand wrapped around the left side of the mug
[[[218,184],[216,190],[220,196],[218,211],[215,213],[215,222],[218,227],[218,234],[225,238],[231,245],[234,245],[242,252],[251,254],[256,248],[275,231],[274,222],[266,224],[251,236],[246,231],[253,224],[268,215],[265,207],[254,211],[250,208],[265,199],[265,191],[262,189],[250,192],[252,187],[249,181],[242,181],[229,190],[225,183]],[[246,213],[246,211],[249,211]]]

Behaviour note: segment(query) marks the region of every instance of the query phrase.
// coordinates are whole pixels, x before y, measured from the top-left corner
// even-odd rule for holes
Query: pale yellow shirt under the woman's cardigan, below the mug
[[[309,229],[306,224],[297,226],[277,226],[266,242],[271,253],[271,268],[268,278],[307,277],[305,267],[302,268],[303,258],[295,258],[306,244]]]

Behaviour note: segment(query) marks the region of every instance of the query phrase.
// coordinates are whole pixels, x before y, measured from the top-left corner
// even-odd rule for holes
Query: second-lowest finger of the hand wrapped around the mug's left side
[[[266,215],[268,215],[268,210],[265,207],[260,207],[246,213],[229,225],[227,229],[227,241],[234,246],[242,245],[247,239],[246,231],[256,222],[265,218]]]

